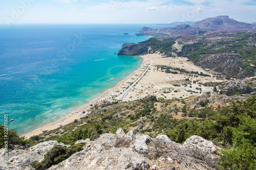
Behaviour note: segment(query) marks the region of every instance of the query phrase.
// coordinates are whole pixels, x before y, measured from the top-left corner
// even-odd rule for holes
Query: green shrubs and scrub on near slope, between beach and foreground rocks
[[[100,134],[115,133],[120,127],[127,133],[128,129],[133,127],[152,137],[164,133],[179,143],[191,135],[202,136],[223,148],[219,154],[220,169],[253,169],[256,163],[256,96],[243,102],[232,102],[230,106],[218,109],[210,105],[210,100],[198,102],[200,108],[189,106],[186,100],[156,100],[155,96],[148,96],[138,101],[94,108],[91,114],[78,119],[76,123],[31,137],[30,140],[40,142],[48,136],[44,140],[54,138],[72,145],[71,148],[54,147],[46,154],[44,161],[32,162],[31,166],[44,169],[67,159],[74,153],[73,150],[78,151],[74,149],[79,148],[74,145],[77,140],[95,140]],[[157,110],[159,105],[161,109]],[[177,113],[184,117],[174,118]],[[15,141],[21,144],[28,142],[17,135],[15,137]]]

